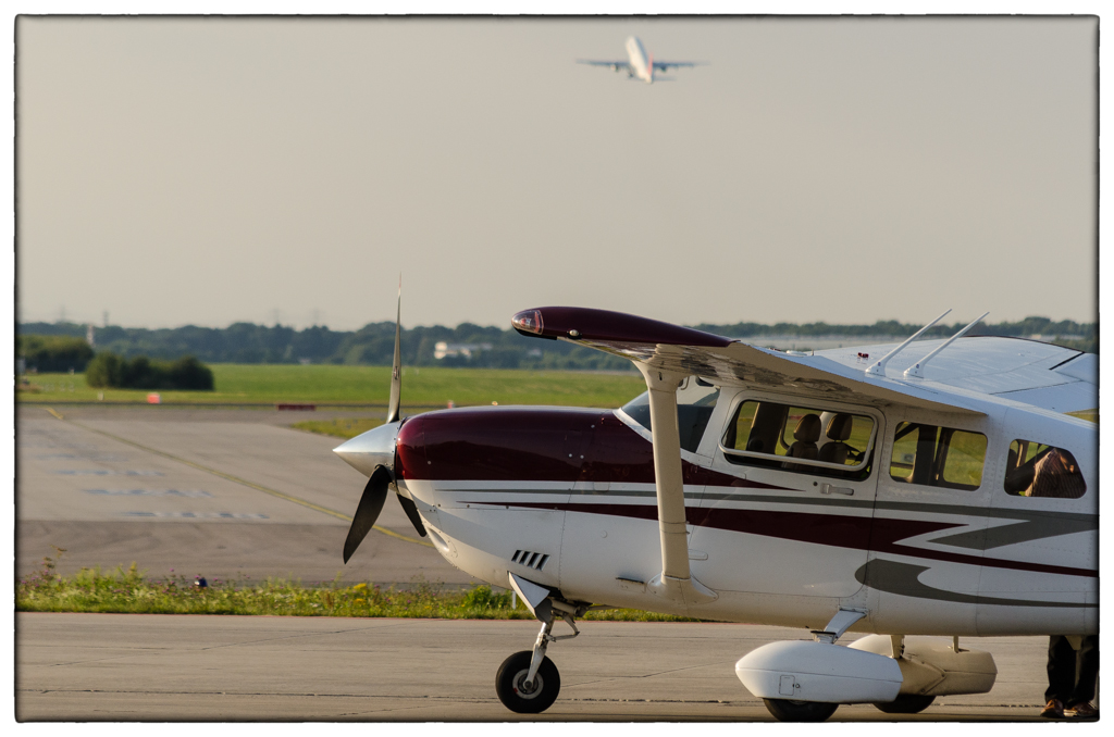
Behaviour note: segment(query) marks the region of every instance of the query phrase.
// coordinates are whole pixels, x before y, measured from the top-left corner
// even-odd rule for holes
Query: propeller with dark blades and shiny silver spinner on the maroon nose
[[[401,317],[402,281],[399,279],[399,307],[394,317],[394,362],[391,367],[391,399],[387,407],[387,422],[333,449],[333,452],[344,459],[349,465],[369,476],[368,484],[363,488],[363,495],[355,508],[348,539],[344,540],[345,563],[375,525],[379,513],[383,511],[387,492],[394,483],[394,441],[399,428],[402,425],[399,420],[402,396]],[[394,488],[394,492],[402,504],[402,510],[414,525],[414,530],[424,538],[426,525],[422,524],[413,500],[400,493],[398,487]]]

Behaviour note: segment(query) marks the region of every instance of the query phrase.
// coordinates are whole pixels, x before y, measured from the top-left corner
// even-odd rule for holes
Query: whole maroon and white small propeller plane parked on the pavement
[[[994,659],[960,637],[1097,632],[1097,425],[1065,414],[1097,407],[1097,356],[957,340],[981,317],[913,343],[944,315],[900,345],[803,354],[526,309],[520,334],[629,358],[647,391],[405,419],[397,317],[387,424],[335,449],[369,476],[344,561],[393,491],[446,560],[512,588],[541,622],[496,676],[517,713],[557,698],[548,646],[616,607],[811,630],[735,666],[783,721],[987,692]]]

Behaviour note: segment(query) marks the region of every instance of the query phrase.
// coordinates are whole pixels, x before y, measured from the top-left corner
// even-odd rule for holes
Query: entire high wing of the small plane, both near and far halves
[[[1057,413],[1098,406],[1098,356],[1023,338],[964,337],[925,367],[924,379],[910,379],[906,371],[945,341],[909,344],[878,376],[866,370],[896,344],[792,354],[645,317],[580,307],[540,307],[519,313],[516,321],[534,314],[541,330],[515,324],[524,335],[571,341],[725,386],[781,389],[802,396],[968,414],[984,414],[981,403],[989,397]]]

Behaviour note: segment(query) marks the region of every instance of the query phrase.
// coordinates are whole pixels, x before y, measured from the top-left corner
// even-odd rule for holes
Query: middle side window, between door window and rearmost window
[[[986,435],[912,422],[893,434],[890,478],[922,487],[978,489],[986,461]]]

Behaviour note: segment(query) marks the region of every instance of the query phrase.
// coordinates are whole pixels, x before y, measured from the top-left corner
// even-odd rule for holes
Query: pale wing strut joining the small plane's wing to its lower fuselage
[[[677,430],[677,384],[684,375],[661,371],[641,362],[635,365],[649,390],[657,524],[662,535],[662,572],[646,588],[686,607],[714,601],[719,596],[693,578],[688,570],[685,489],[681,471],[681,433]]]

